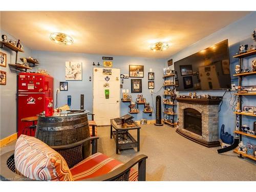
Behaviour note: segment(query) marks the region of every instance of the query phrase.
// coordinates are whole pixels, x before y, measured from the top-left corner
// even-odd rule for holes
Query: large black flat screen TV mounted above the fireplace
[[[174,62],[177,91],[231,89],[228,40]]]

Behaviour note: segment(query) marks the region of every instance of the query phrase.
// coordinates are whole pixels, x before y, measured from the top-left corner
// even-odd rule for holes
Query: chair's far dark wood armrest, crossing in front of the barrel
[[[95,153],[97,153],[97,139],[99,139],[99,137],[88,137],[86,139],[77,141],[75,143],[71,143],[71,144],[67,144],[67,145],[50,146],[50,147],[53,148],[54,150],[66,150],[67,148],[72,148],[72,147],[81,145],[86,141],[92,140],[92,154],[95,154]]]

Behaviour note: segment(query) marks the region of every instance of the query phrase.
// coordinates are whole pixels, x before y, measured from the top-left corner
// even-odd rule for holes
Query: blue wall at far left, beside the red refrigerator
[[[4,30],[0,31],[0,34],[6,34],[9,39],[17,40],[17,38],[11,36]],[[21,41],[21,44],[23,42]],[[0,67],[1,71],[6,72],[7,81],[6,86],[0,86],[0,139],[3,139],[9,135],[16,133],[16,76],[19,71],[13,70],[8,66],[8,63],[15,63],[16,53],[9,48],[0,49],[1,52],[7,54],[6,67]],[[24,46],[24,53],[18,53],[18,61],[20,57],[32,56],[31,49]]]

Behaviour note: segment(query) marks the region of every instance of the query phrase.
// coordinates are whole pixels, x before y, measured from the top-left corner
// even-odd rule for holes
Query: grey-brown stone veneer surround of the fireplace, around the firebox
[[[219,141],[219,105],[178,104],[179,131],[206,142]],[[202,136],[184,129],[184,109],[191,108],[202,114]]]

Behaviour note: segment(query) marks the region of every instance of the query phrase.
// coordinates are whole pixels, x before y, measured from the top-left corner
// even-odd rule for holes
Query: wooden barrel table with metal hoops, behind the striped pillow
[[[61,112],[52,116],[38,115],[35,138],[40,139],[49,146],[67,145],[90,137],[87,114],[84,112]],[[76,161],[69,161],[74,153],[83,154],[86,158],[90,155],[90,141],[78,146],[80,148],[70,148],[68,150],[58,150],[67,161],[69,167]]]

